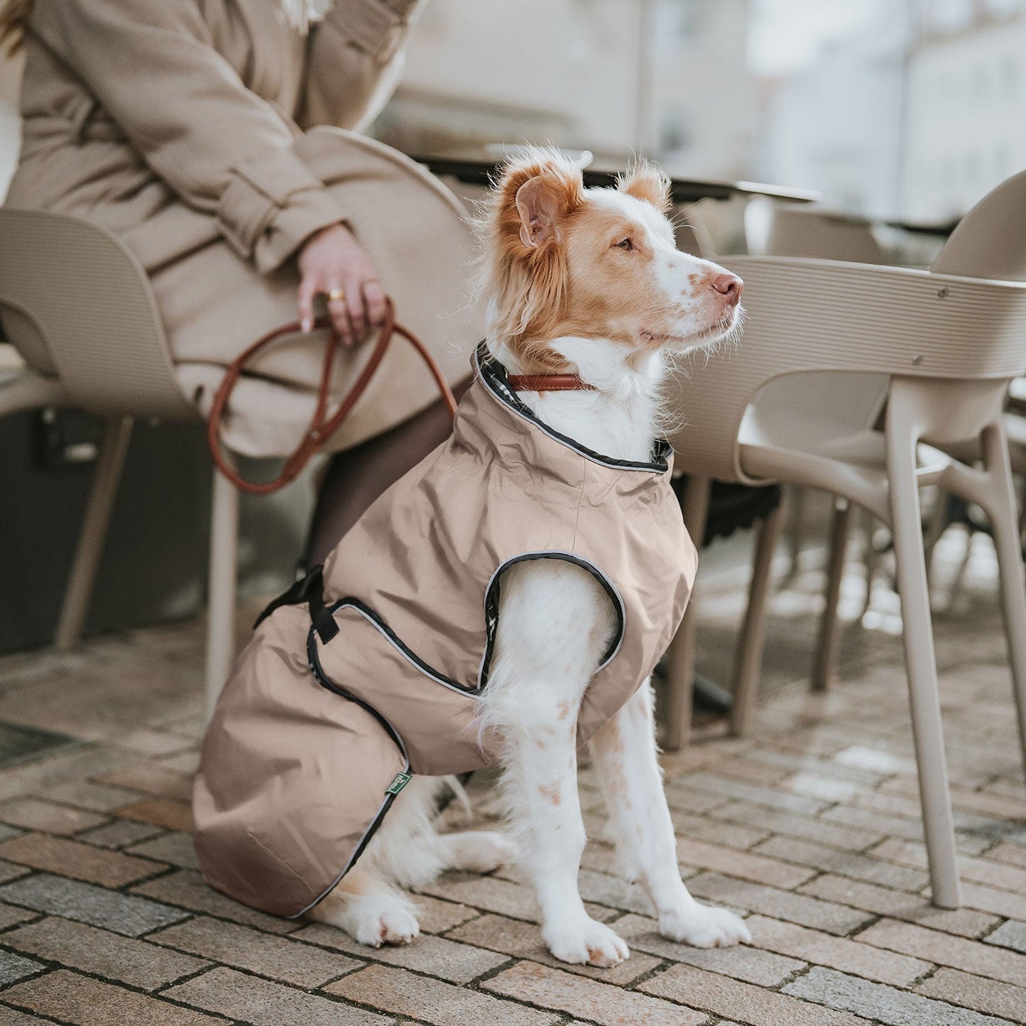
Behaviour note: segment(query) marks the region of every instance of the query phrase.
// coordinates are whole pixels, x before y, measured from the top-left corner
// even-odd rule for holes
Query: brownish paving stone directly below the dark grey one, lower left
[[[142,990],[156,990],[209,965],[201,958],[165,951],[147,941],[56,917],[4,934],[3,943]]]

